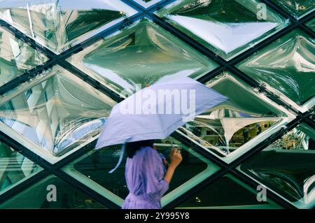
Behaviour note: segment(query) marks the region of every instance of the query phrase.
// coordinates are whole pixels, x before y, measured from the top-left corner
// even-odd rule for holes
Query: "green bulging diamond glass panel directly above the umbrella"
[[[160,78],[198,78],[217,67],[149,20],[98,41],[69,62],[119,93],[134,92],[135,85],[152,85]]]

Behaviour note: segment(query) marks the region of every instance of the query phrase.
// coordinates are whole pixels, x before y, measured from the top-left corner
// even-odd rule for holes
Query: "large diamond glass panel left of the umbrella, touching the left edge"
[[[60,66],[40,76],[1,99],[0,130],[55,163],[97,137],[115,102]]]

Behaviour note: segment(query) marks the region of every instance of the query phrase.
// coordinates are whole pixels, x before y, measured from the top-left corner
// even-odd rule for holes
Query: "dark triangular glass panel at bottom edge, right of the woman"
[[[224,175],[209,187],[198,192],[177,208],[227,208],[263,209],[280,208],[269,201],[258,201],[257,191],[237,180],[232,175]]]

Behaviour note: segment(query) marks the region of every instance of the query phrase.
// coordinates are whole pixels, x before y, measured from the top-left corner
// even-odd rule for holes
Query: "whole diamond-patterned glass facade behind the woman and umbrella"
[[[314,208],[314,6],[0,1],[0,208],[120,208],[102,125],[122,92],[181,77],[228,101],[155,141],[183,155],[163,208]]]

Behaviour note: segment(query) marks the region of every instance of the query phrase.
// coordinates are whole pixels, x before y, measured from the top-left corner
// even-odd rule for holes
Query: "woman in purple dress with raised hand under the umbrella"
[[[153,148],[153,141],[126,144],[125,178],[129,194],[123,209],[160,209],[161,197],[171,182],[174,171],[181,163],[179,150],[172,149],[169,166]]]

